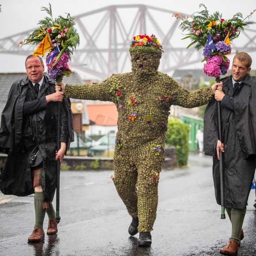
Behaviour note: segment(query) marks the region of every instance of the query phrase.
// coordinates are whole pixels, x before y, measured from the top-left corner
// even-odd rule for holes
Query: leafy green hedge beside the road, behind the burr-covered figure
[[[168,120],[166,144],[176,147],[178,166],[185,166],[188,163],[188,134],[187,124],[181,123],[180,120]]]

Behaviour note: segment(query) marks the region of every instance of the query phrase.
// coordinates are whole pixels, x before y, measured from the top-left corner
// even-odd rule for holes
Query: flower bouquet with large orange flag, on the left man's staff
[[[67,14],[66,18],[59,15],[53,19],[51,4],[49,8],[42,7],[41,10],[46,11],[49,16],[40,20],[39,28],[19,44],[38,45],[33,56],[44,56],[47,51],[50,51],[46,56],[47,76],[59,83],[64,75],[69,76],[71,73],[68,61],[76,46],[79,45],[79,34],[74,27],[75,19],[70,14]]]

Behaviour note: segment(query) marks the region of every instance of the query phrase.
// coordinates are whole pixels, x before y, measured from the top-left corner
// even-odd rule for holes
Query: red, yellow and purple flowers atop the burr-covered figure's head
[[[148,35],[138,35],[136,37],[133,37],[131,48],[133,47],[147,47],[148,49],[158,49],[162,51],[162,45],[159,43],[158,39],[155,37],[155,35],[151,35],[150,37]]]

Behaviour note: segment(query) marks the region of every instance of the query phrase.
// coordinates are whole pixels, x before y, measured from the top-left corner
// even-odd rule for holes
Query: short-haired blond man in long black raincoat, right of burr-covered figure
[[[237,255],[244,238],[242,225],[256,168],[256,78],[249,75],[252,58],[237,53],[232,75],[222,79],[204,116],[204,150],[213,156],[213,179],[217,203],[220,199],[219,152],[224,152],[224,206],[232,223],[230,241],[220,250]],[[217,101],[221,102],[222,138],[218,138]]]

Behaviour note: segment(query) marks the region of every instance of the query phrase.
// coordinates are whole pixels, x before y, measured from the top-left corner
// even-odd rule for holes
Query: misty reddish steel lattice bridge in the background
[[[176,12],[129,4],[108,6],[75,16],[80,45],[72,56],[72,69],[100,80],[114,73],[130,71],[128,49],[132,37],[138,34],[155,34],[158,37],[164,49],[159,69],[164,73],[201,62],[202,53],[193,47],[186,49],[190,41],[181,40],[184,35],[178,28],[180,21],[172,17]],[[0,39],[0,53],[24,56],[33,53],[35,45],[19,47],[18,43],[34,29]],[[241,32],[240,40],[232,43],[233,53],[255,52],[255,38],[256,30]]]

